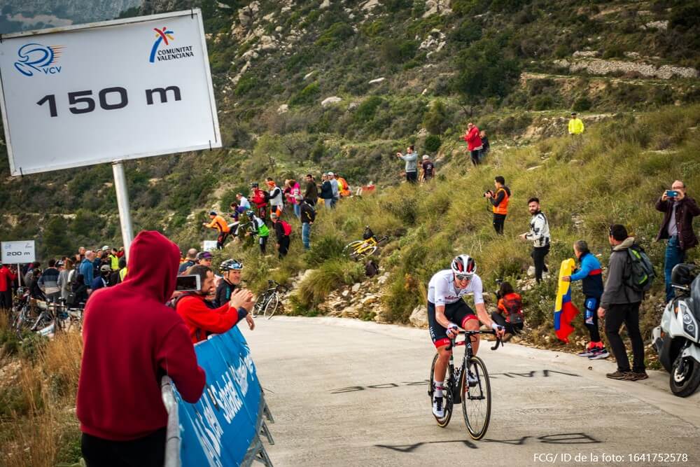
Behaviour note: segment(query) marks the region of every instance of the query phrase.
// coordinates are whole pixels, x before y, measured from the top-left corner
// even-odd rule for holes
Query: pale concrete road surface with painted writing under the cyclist
[[[700,465],[700,395],[673,396],[665,372],[614,381],[605,378],[612,362],[517,344],[491,351],[482,341],[493,411],[486,437],[472,441],[459,406],[447,428],[435,424],[427,330],[286,316],[256,323],[244,333],[276,421],[276,467]]]

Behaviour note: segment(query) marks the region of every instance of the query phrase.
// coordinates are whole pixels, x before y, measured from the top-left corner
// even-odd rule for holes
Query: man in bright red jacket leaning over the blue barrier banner
[[[196,265],[190,268],[190,274],[200,276],[202,288],[178,298],[175,309],[187,324],[193,343],[207,340],[210,334],[223,334],[241,319],[246,319],[251,330],[255,328],[249,314],[255,305],[252,293],[239,288],[231,294],[228,302],[216,307],[207,300],[207,296],[214,295],[214,272],[207,266]]]

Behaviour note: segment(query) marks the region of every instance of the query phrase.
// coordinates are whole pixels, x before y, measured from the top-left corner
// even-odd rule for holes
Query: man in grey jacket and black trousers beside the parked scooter
[[[617,371],[605,376],[628,381],[647,379],[644,367],[644,341],[639,332],[639,305],[644,294],[626,286],[624,280],[624,277],[630,274],[627,249],[634,244],[634,237],[627,236],[624,225],[615,224],[608,230],[608,242],[612,245],[612,253],[608,265],[608,280],[605,281],[605,291],[601,297],[601,306],[598,308],[598,318],[605,319],[605,335],[608,336],[612,354],[617,360]],[[622,337],[619,337],[619,328],[622,323],[632,342],[631,371],[627,350]]]

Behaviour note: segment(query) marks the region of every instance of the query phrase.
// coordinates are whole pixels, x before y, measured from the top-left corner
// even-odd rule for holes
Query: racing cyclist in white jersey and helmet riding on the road
[[[442,407],[442,384],[444,383],[447,364],[451,349],[448,350],[450,340],[458,335],[459,329],[479,330],[479,321],[491,326],[496,333],[503,337],[505,332],[491,320],[484,306],[482,280],[476,274],[477,265],[468,255],[459,255],[452,260],[450,269],[437,272],[428,284],[428,329],[430,338],[437,349],[437,362],[435,363],[435,391],[433,398],[433,414],[435,417],[444,417]],[[462,300],[463,295],[474,294],[474,311]],[[478,316],[478,317],[477,317]],[[479,350],[479,338],[472,336],[472,348],[474,354]],[[471,382],[472,375],[467,375]]]

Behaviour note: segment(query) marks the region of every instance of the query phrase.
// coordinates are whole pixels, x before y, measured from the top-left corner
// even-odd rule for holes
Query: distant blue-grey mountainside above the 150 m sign
[[[59,4],[58,4],[59,3]],[[111,20],[122,11],[141,5],[142,0],[4,0],[2,13],[10,20],[54,16],[73,24]]]

